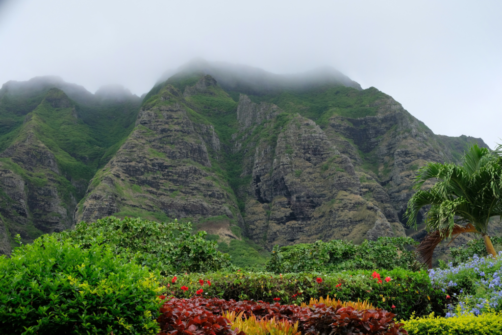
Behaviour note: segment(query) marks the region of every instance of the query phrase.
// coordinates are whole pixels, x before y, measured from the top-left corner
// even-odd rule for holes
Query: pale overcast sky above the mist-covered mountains
[[[502,1],[0,0],[0,82],[58,75],[141,95],[195,57],[331,65],[435,133],[502,137]]]

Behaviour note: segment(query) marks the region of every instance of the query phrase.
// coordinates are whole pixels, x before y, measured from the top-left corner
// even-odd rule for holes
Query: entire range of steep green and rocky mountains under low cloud
[[[276,75],[196,60],[141,103],[122,87],[37,93],[26,83],[28,97],[7,84],[0,122],[17,130],[0,134],[0,214],[27,240],[108,215],[192,221],[220,242],[245,237],[268,250],[419,239],[423,230],[403,222],[415,171],[458,162],[470,142],[486,146],[434,134],[389,95],[331,68]]]

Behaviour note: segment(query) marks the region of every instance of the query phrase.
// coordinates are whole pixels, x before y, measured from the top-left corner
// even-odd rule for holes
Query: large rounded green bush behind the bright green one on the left
[[[111,245],[115,253],[136,259],[140,265],[160,270],[163,275],[183,272],[216,271],[231,266],[230,258],[217,251],[206,232],[192,235],[190,223],[171,223],[107,217],[94,223],[79,223],[74,231],[58,233],[60,240],[71,238],[88,248],[97,236]]]

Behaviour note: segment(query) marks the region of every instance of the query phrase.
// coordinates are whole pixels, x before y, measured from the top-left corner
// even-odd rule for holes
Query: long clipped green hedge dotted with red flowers
[[[309,302],[310,298],[329,295],[342,301],[367,300],[373,306],[392,310],[401,318],[408,318],[415,311],[427,315],[431,311],[443,313],[446,295],[434,289],[427,272],[411,272],[403,269],[380,272],[381,282],[372,278],[371,271],[346,271],[343,273],[286,273],[270,272],[214,272],[180,275],[166,278],[166,295],[188,298],[203,289],[203,295],[235,300],[264,300],[282,303]],[[389,281],[386,281],[389,277]],[[320,283],[317,278],[322,280]],[[202,284],[200,284],[202,280]],[[207,282],[209,280],[210,284]],[[184,291],[182,287],[185,287]],[[395,308],[392,308],[392,306]]]

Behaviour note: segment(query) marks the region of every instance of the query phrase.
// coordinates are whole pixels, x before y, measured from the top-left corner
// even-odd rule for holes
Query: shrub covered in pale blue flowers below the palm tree
[[[446,269],[431,269],[432,285],[448,298],[447,317],[502,310],[502,252],[498,258],[474,257]]]

